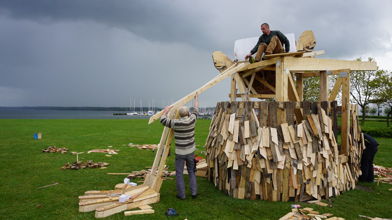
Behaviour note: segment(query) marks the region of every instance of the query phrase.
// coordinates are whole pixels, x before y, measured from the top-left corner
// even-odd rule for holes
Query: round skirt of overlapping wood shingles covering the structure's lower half
[[[207,178],[234,198],[270,201],[321,200],[354,189],[364,149],[358,108],[347,104],[352,127],[347,153],[339,155],[337,110],[331,114],[335,123],[326,114],[334,103],[218,103],[205,145]],[[287,123],[278,125],[283,109]],[[303,110],[296,124],[294,109]]]

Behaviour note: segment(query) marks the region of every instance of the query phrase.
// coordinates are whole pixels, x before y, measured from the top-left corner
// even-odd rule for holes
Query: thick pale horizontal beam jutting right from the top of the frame
[[[324,71],[325,69],[336,70],[349,68],[357,70],[377,70],[376,62],[330,60],[330,59],[308,59],[301,57],[284,57],[284,66],[290,71]]]

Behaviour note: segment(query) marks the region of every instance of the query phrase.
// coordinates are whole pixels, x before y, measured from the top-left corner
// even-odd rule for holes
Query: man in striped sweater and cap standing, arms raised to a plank
[[[195,105],[189,114],[188,107],[180,107],[178,113],[180,119],[169,119],[167,114],[172,108],[165,107],[161,117],[161,124],[174,130],[175,143],[175,184],[177,188],[177,198],[185,199],[185,182],[184,182],[184,163],[187,165],[189,176],[189,187],[191,188],[192,198],[197,197],[197,183],[195,174],[195,124],[199,114],[199,103],[197,92],[195,95]]]

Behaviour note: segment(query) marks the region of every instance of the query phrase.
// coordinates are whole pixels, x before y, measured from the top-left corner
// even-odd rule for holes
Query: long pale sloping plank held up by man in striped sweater
[[[231,67],[226,69],[224,72],[219,74],[217,77],[212,79],[210,82],[208,82],[204,86],[198,88],[197,90],[195,90],[194,92],[192,92],[189,95],[185,96],[184,98],[178,100],[177,102],[173,103],[171,106],[174,109],[178,109],[179,107],[181,107],[181,106],[185,105],[186,103],[188,103],[189,101],[191,101],[195,97],[196,92],[198,94],[201,94],[203,91],[207,90],[208,88],[211,88],[211,87],[215,86],[217,83],[221,82],[222,80],[226,79],[227,77],[231,76],[232,74],[238,72],[239,70],[243,69],[244,67],[245,67],[245,64],[240,64],[240,65],[238,65],[238,66],[236,66],[236,67],[234,67],[232,69],[231,69]],[[161,110],[160,112],[158,112],[155,115],[151,116],[149,121],[148,121],[148,124],[151,124],[152,122],[154,122],[158,118],[160,118],[162,116],[162,114],[163,114],[163,111],[164,110]]]

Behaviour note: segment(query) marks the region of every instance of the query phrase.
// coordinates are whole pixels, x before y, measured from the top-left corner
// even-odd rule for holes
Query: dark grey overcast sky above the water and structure
[[[161,108],[234,60],[260,24],[312,30],[322,59],[375,58],[392,70],[391,0],[0,0],[0,106]],[[229,101],[230,79],[199,95]],[[193,104],[191,104],[193,105]]]

